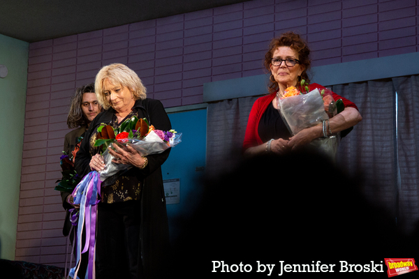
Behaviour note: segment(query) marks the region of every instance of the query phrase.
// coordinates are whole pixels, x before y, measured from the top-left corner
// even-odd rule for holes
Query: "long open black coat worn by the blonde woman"
[[[150,125],[157,130],[170,130],[171,124],[162,103],[159,100],[137,100],[134,107],[138,108],[138,118],[147,118]],[[110,123],[115,110],[101,112],[90,123],[89,130],[82,141],[80,150],[75,157],[75,169],[80,176],[88,174],[91,169],[89,142],[91,133],[101,126],[101,123]],[[170,153],[167,149],[163,153],[147,156],[148,165],[145,169],[133,167],[124,176],[138,176],[144,181],[141,194],[141,227],[140,227],[140,257],[142,257],[142,274],[145,278],[155,278],[163,269],[163,259],[169,252],[169,229],[166,211],[166,198],[163,190],[163,177],[161,165]]]

